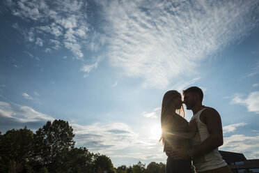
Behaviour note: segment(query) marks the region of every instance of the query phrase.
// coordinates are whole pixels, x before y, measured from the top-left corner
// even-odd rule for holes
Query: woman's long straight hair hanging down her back
[[[163,97],[163,101],[162,101],[162,109],[161,109],[161,128],[162,128],[162,137],[160,138],[160,140],[162,140],[163,144],[164,144],[164,120],[166,119],[166,114],[170,114],[170,108],[171,105],[172,105],[172,102],[173,102],[173,99],[175,97],[178,97],[180,96],[180,93],[178,91],[175,91],[175,90],[170,90],[170,91],[167,91],[165,94],[164,94],[164,97]],[[179,109],[179,110],[175,110],[175,112],[177,114],[180,114],[181,116],[185,117],[185,110],[184,110],[184,107],[182,105],[182,107]],[[160,141],[159,140],[159,141]]]

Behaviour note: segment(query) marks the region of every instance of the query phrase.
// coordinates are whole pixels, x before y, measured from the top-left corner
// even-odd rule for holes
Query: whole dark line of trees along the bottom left
[[[21,128],[0,132],[0,172],[40,173],[164,173],[165,164],[136,163],[113,167],[108,156],[75,147],[73,128],[61,119],[47,121],[33,133]]]

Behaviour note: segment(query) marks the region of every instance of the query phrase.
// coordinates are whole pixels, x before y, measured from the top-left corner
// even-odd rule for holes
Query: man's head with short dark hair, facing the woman
[[[197,104],[203,102],[203,91],[198,87],[189,87],[183,91],[184,101],[187,110],[191,110]]]

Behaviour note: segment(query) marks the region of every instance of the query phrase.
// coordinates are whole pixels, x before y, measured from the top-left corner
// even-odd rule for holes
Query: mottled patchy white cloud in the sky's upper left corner
[[[73,52],[76,59],[84,57],[81,51],[82,45],[86,45],[88,38],[87,23],[88,12],[87,3],[81,0],[72,1],[13,1],[6,4],[9,6],[13,15],[21,17],[23,20],[37,20],[38,26],[31,27],[25,32],[26,40],[33,42],[36,39],[36,45],[42,46],[42,43],[53,44],[44,33],[51,33],[54,37],[63,38],[63,47]],[[17,24],[13,27],[18,29]],[[41,35],[40,35],[41,34]],[[40,36],[42,36],[40,38]],[[52,36],[52,37],[53,37]],[[49,42],[50,40],[50,42]],[[60,44],[53,48],[58,50]]]

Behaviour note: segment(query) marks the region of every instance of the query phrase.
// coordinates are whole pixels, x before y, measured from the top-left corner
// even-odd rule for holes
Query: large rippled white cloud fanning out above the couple
[[[258,1],[100,1],[109,22],[109,60],[164,88],[198,62],[258,26]],[[116,13],[115,13],[116,12]]]

